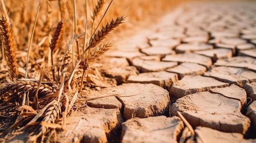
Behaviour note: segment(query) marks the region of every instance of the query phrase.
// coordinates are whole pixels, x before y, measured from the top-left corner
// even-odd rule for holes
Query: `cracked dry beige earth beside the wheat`
[[[59,143],[256,143],[256,2],[189,2],[120,43],[119,86],[90,95],[126,97],[88,101]]]

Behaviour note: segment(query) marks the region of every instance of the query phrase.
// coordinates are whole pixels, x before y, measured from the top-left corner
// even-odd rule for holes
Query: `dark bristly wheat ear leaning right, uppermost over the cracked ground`
[[[101,31],[98,30],[98,32],[95,33],[90,39],[88,48],[97,46],[97,44],[99,44],[106,37],[106,35],[110,33],[110,31],[114,30],[115,27],[119,26],[119,24],[122,24],[124,20],[124,16],[119,16],[116,20],[112,19],[110,23],[106,24],[106,26],[102,26]]]

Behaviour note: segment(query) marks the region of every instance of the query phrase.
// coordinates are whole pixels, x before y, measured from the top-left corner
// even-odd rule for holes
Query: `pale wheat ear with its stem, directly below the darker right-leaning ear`
[[[102,44],[101,46],[94,48],[87,57],[85,57],[85,60],[80,63],[81,68],[83,68],[83,75],[81,79],[81,86],[80,86],[80,91],[82,90],[83,87],[83,77],[85,75],[85,71],[87,70],[90,62],[94,62],[95,59],[101,55],[103,55],[105,52],[107,52],[111,47],[113,46],[112,42],[108,42],[105,44]]]

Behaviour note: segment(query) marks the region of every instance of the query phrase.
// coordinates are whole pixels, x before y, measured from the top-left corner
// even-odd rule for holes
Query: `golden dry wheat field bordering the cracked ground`
[[[88,90],[116,85],[90,63],[178,3],[1,0],[0,142],[24,132],[25,142],[54,142],[66,118],[94,99]]]

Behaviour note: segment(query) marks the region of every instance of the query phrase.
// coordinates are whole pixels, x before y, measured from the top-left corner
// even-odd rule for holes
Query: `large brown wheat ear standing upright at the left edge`
[[[2,31],[2,39],[4,43],[4,57],[7,62],[8,70],[11,75],[12,81],[18,74],[17,59],[16,59],[16,47],[13,43],[13,36],[11,32],[11,26],[7,22],[7,18],[2,15],[0,20],[0,29]]]

